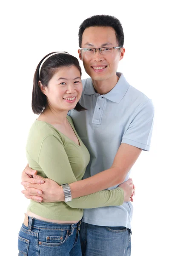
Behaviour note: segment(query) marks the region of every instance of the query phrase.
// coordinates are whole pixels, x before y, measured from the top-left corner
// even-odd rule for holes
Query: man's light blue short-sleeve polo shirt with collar
[[[83,80],[80,104],[87,111],[70,111],[91,160],[84,178],[109,169],[121,143],[149,151],[154,107],[152,101],[132,87],[122,73],[115,87],[104,95],[95,92],[92,79]],[[125,180],[128,180],[129,173]],[[110,187],[114,189],[117,186]],[[131,229],[132,203],[122,206],[84,209],[83,221],[99,226],[124,226]]]

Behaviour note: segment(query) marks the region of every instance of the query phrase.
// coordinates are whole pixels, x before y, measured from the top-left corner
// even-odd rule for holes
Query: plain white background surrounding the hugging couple
[[[29,201],[21,194],[27,134],[36,116],[32,81],[49,52],[77,55],[78,28],[92,15],[117,17],[126,53],[118,71],[155,105],[150,152],[132,169],[136,186],[132,256],[168,255],[168,49],[167,1],[6,1],[0,7],[0,254],[17,255],[17,235]],[[82,63],[81,67],[83,66]],[[83,70],[82,78],[87,75]],[[113,146],[113,145],[112,145]]]

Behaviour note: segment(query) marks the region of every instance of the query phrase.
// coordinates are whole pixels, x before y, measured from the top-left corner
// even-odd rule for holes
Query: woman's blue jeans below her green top
[[[58,224],[29,217],[18,236],[18,256],[82,256],[76,224]]]

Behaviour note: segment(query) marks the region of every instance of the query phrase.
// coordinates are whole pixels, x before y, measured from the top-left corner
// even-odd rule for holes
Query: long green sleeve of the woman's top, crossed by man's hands
[[[38,163],[46,176],[56,181],[59,185],[77,181],[62,142],[53,135],[49,135],[43,140]],[[122,205],[123,201],[123,189],[117,187],[116,189],[103,190],[74,198],[66,204],[71,208],[83,209]]]

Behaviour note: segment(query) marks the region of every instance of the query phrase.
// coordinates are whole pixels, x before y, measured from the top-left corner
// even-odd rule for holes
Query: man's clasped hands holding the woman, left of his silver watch
[[[37,171],[29,167],[22,172],[22,182],[26,190],[22,193],[26,198],[37,202],[64,201],[64,193],[61,186],[51,179],[36,175]]]

